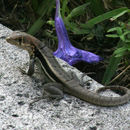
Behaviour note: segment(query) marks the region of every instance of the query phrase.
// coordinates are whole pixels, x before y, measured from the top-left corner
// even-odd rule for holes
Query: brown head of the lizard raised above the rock
[[[33,37],[25,32],[14,31],[11,35],[6,37],[6,41],[28,52],[32,52],[34,49],[34,45],[32,44]]]

